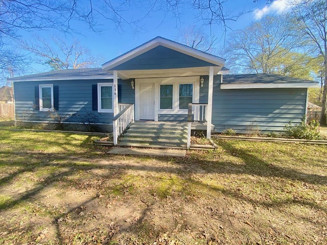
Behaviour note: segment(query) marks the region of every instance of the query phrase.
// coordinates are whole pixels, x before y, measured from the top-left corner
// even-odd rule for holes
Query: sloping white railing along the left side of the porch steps
[[[119,104],[120,112],[112,120],[113,144],[118,144],[118,139],[134,122],[134,104]]]

